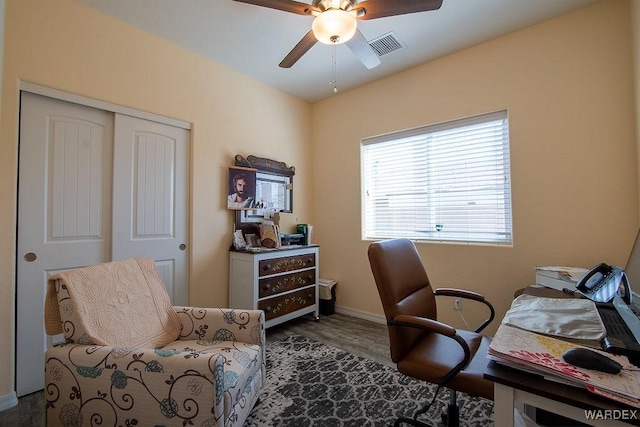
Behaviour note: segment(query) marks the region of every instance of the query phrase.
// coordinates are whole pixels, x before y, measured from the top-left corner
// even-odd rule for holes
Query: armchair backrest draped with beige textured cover
[[[180,320],[149,258],[50,277],[45,323],[48,334],[63,332],[68,342],[121,347],[162,347],[180,333]]]

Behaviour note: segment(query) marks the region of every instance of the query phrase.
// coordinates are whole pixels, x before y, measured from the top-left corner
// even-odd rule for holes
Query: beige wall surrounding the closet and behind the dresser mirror
[[[71,0],[6,4],[0,133],[0,398],[14,390],[18,88],[27,81],[192,123],[190,300],[226,306],[237,153],[296,167],[310,186],[311,106]],[[307,192],[296,192],[311,222]],[[290,219],[289,219],[290,220]],[[34,307],[38,310],[39,307]]]

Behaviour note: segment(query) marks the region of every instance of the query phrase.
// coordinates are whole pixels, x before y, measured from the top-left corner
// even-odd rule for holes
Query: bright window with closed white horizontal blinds
[[[362,141],[363,239],[511,243],[506,111]]]

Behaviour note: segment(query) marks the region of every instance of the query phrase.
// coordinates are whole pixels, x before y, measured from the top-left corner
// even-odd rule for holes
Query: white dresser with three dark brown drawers
[[[229,307],[264,310],[266,327],[318,311],[318,246],[229,252]]]

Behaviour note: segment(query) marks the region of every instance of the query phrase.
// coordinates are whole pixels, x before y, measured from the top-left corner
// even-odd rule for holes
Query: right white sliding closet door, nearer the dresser
[[[116,115],[113,260],[156,261],[174,305],[187,305],[189,131]]]

